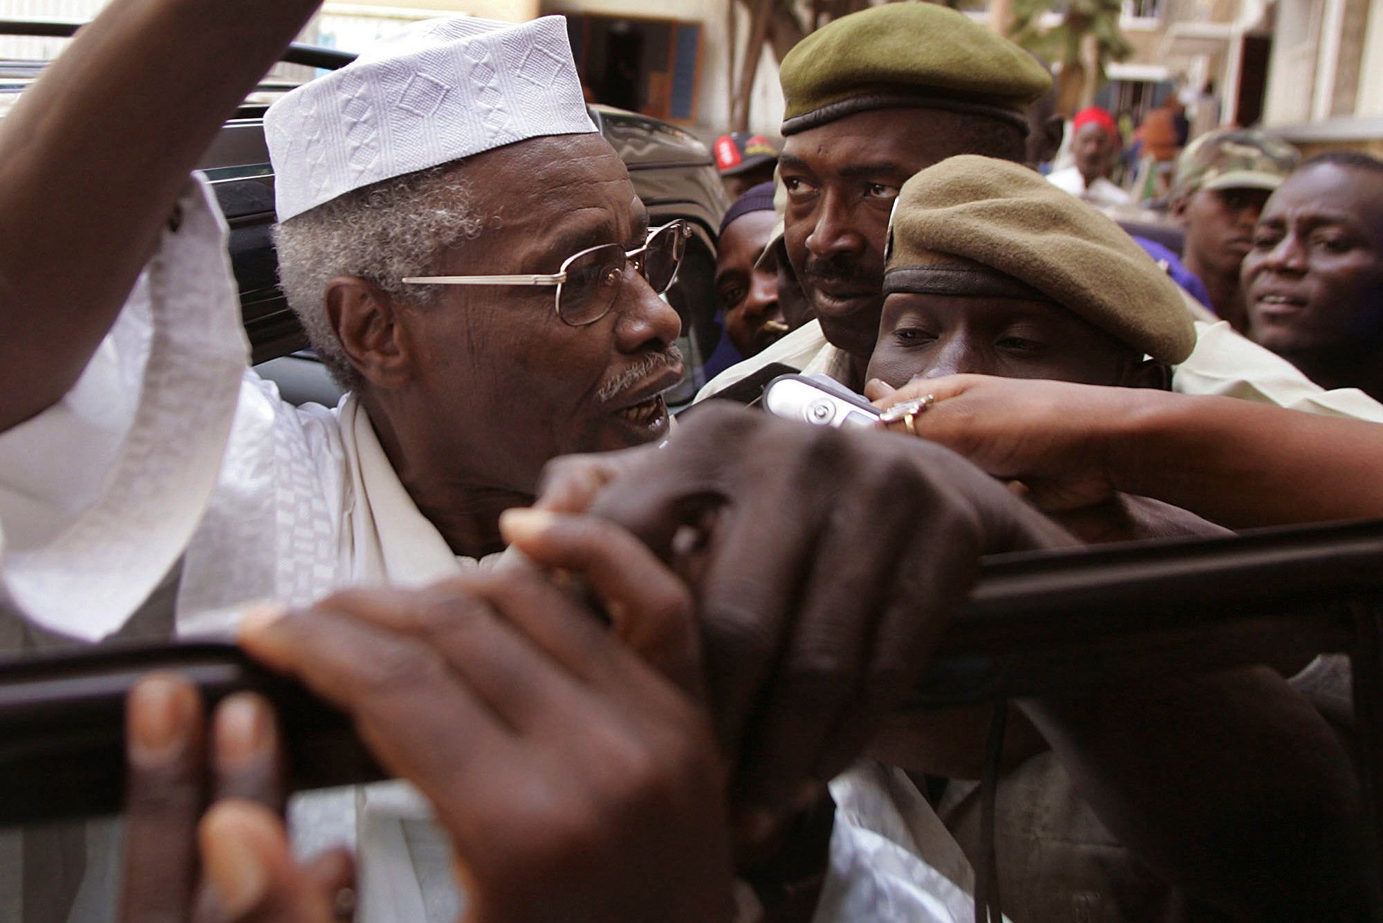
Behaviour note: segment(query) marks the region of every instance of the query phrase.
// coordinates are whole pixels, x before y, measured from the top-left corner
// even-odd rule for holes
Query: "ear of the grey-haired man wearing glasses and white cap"
[[[369,280],[337,275],[326,284],[326,317],[365,381],[379,387],[407,381],[408,336],[393,296]]]

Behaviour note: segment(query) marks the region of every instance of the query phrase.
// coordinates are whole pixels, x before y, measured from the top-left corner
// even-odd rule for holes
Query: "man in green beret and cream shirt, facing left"
[[[783,245],[817,320],[718,375],[703,399],[768,365],[823,372],[862,389],[882,311],[884,231],[898,190],[957,154],[1021,163],[1025,107],[1051,86],[1026,51],[932,3],[888,3],[841,17],[798,43],[783,58],[780,77]],[[1196,333],[1192,356],[1174,369],[1176,390],[1383,422],[1383,404],[1354,389],[1322,390],[1228,324]]]

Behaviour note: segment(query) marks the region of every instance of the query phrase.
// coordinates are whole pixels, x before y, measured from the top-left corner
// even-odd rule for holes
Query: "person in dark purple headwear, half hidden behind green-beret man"
[[[715,300],[725,336],[707,361],[708,376],[761,353],[788,331],[779,309],[777,262],[761,259],[776,223],[772,180],[737,198],[721,220]]]

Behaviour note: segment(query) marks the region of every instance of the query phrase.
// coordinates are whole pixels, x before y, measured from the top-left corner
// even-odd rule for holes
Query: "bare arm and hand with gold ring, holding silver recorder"
[[[1229,529],[1383,518],[1376,423],[1229,397],[954,375],[895,392],[932,394],[918,435],[1061,512],[1116,491],[1152,497]]]

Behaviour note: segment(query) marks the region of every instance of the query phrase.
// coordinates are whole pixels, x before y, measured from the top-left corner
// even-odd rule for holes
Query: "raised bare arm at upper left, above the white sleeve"
[[[318,0],[115,0],[0,122],[0,429],[72,386],[188,172]]]

